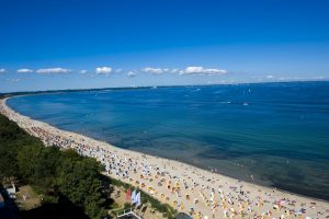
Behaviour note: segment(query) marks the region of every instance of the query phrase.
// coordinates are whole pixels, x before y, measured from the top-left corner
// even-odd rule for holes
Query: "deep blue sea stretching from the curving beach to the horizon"
[[[121,148],[329,200],[329,82],[109,89],[8,104]]]

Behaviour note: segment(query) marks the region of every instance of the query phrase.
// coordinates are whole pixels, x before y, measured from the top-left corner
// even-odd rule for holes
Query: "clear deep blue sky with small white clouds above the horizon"
[[[326,0],[1,0],[0,92],[329,79]]]

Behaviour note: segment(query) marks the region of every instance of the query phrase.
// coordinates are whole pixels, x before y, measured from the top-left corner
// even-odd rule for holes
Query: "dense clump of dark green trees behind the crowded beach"
[[[18,177],[36,186],[48,200],[60,201],[58,197],[64,196],[90,218],[106,215],[100,175],[103,169],[95,159],[81,157],[72,149],[44,147],[1,114],[0,158],[0,180],[4,184]]]

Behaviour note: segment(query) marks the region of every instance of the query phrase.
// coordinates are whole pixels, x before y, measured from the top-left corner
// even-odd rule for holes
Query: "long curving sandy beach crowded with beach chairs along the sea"
[[[0,113],[46,146],[72,148],[105,165],[104,174],[138,186],[193,218],[329,218],[329,203],[241,182],[185,163],[116,148],[23,116]],[[325,191],[324,191],[325,192]]]

